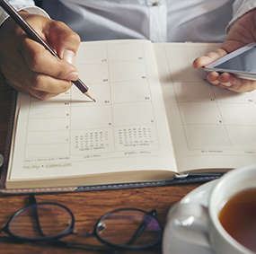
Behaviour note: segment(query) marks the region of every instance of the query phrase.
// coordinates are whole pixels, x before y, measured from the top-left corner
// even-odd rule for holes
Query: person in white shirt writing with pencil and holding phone
[[[82,40],[150,39],[223,41],[195,59],[200,68],[255,41],[254,0],[9,0],[61,58],[51,56],[0,11],[0,65],[6,82],[41,100],[66,92],[77,79],[75,53]],[[49,16],[51,18],[49,18]],[[217,87],[250,92],[256,82],[231,74],[207,75]]]

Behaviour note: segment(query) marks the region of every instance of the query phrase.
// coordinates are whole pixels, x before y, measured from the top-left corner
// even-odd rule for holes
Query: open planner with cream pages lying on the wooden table
[[[218,89],[192,66],[217,47],[82,42],[75,66],[96,102],[75,85],[47,101],[18,92],[2,192],[126,186],[255,163],[256,93]]]

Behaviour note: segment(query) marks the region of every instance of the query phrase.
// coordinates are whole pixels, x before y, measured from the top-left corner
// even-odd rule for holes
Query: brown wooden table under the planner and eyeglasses
[[[5,135],[8,126],[13,89],[4,82],[0,74],[0,153],[4,153]],[[71,209],[75,215],[77,232],[93,232],[93,226],[102,215],[111,210],[125,207],[135,207],[150,211],[157,209],[157,218],[161,223],[166,222],[166,215],[170,207],[186,196],[199,185],[166,186],[154,188],[128,188],[118,190],[91,191],[79,193],[62,193],[54,195],[37,195],[38,202],[57,202]],[[10,216],[24,206],[27,206],[28,196],[0,196],[0,228],[9,220]],[[2,235],[4,233],[2,232]],[[67,236],[66,241],[75,236]],[[91,239],[84,242],[91,243]],[[100,244],[99,241],[93,241]],[[145,251],[124,251],[121,253],[148,253]],[[95,253],[90,251],[64,249],[49,245],[38,246],[28,243],[6,243],[0,241],[0,253]],[[152,252],[150,252],[152,253]],[[155,250],[161,253],[161,246]]]

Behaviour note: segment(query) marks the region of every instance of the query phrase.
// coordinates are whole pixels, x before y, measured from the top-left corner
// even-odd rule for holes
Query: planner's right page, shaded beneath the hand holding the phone
[[[155,43],[163,99],[180,172],[256,163],[256,92],[231,92],[207,82],[193,60],[216,43]]]

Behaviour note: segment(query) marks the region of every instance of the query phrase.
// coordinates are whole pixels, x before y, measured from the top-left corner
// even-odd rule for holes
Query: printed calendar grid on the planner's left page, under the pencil
[[[129,53],[126,53],[127,48]],[[37,149],[42,151],[44,147],[48,149],[41,153],[42,157],[159,150],[145,60],[144,47],[139,42],[82,47],[77,54],[76,66],[97,102],[88,102],[74,86],[65,94],[50,99],[47,107],[42,101],[32,100],[34,113],[29,117],[30,137],[24,157],[38,157]],[[52,116],[54,109],[63,112]],[[65,114],[66,109],[68,113]],[[120,134],[125,135],[131,129],[134,136],[129,136],[129,142],[120,141]],[[142,129],[144,133],[147,130],[144,138],[140,136],[139,140],[132,140],[138,138],[136,135]],[[36,133],[45,137],[37,139],[37,144],[33,141]],[[56,136],[55,133],[63,135]],[[99,139],[102,133],[103,138]],[[58,154],[58,150],[62,153]]]

